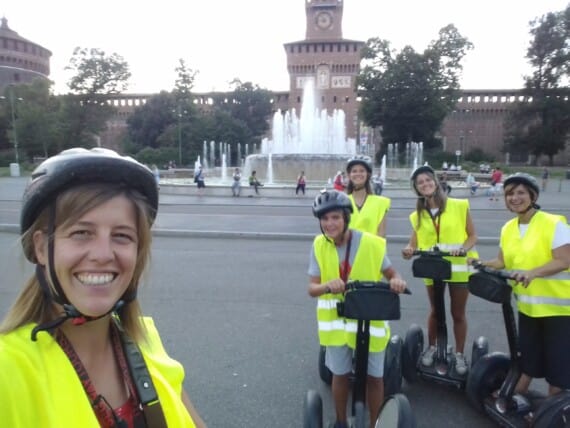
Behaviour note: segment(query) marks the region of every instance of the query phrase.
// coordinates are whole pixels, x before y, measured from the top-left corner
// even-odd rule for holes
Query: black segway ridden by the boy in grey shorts
[[[339,316],[357,320],[355,364],[351,403],[351,428],[368,426],[366,417],[366,378],[368,376],[368,345],[370,321],[400,319],[400,296],[390,291],[385,282],[350,281],[346,284],[344,302],[337,305]],[[411,294],[406,290],[406,294]],[[386,348],[386,350],[388,347]],[[388,358],[386,351],[386,359]],[[386,365],[386,363],[385,363]],[[401,379],[400,379],[401,383]],[[415,428],[415,418],[407,398],[402,394],[389,395],[376,420],[376,426]],[[388,421],[390,424],[388,425]],[[309,390],[303,404],[303,427],[323,427],[323,405],[318,392]]]

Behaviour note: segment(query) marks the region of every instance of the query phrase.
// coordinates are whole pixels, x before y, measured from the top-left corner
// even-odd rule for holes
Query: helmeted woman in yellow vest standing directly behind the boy
[[[372,191],[372,159],[356,155],[346,164],[348,186],[346,193],[352,202],[350,227],[373,235],[386,236],[386,213],[390,209],[390,199],[377,196]]]

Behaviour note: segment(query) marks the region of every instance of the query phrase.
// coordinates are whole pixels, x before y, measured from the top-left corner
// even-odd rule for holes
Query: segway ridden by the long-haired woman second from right
[[[416,382],[418,378],[421,378],[464,389],[468,371],[464,374],[457,373],[455,370],[455,353],[453,347],[447,343],[445,280],[451,278],[451,262],[444,257],[451,256],[451,254],[433,247],[428,251],[416,250],[413,255],[419,256],[412,263],[414,277],[433,280],[434,310],[437,320],[436,352],[433,364],[424,366],[421,361],[424,351],[423,329],[417,324],[412,324],[404,338],[402,374],[408,383]],[[475,340],[471,353],[472,364],[482,355],[485,355],[488,350],[489,344],[486,338],[480,337]]]

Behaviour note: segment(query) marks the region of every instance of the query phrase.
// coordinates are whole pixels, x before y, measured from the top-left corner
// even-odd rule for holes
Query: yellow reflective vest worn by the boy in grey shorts
[[[321,282],[340,278],[339,259],[336,246],[324,235],[314,240],[315,257],[321,271]],[[386,240],[382,237],[362,233],[360,246],[356,249],[349,280],[380,281],[382,261],[386,252]],[[319,341],[323,346],[356,345],[357,322],[341,318],[336,305],[344,300],[342,294],[323,294],[317,300],[317,321]],[[370,322],[370,352],[380,352],[390,339],[390,326],[387,321]]]

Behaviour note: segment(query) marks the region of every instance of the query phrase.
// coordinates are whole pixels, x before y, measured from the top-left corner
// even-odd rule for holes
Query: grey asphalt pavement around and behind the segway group
[[[17,234],[7,232],[17,229],[23,188],[9,180],[0,180],[0,223],[8,225],[0,232],[0,317],[31,273]],[[567,194],[546,196],[568,215]],[[186,388],[210,427],[301,426],[308,389],[321,393],[325,420],[332,418],[330,390],[317,371],[316,302],[306,293],[309,237],[318,232],[310,201],[161,196],[140,297],[166,349],[185,366]],[[483,258],[495,254],[492,241],[509,218],[500,204],[472,201],[478,233],[488,238],[478,246]],[[389,217],[389,255],[413,291],[402,296],[402,319],[392,323],[400,335],[411,323],[423,326],[427,316],[424,287],[399,255],[410,206],[411,198],[394,197]],[[471,297],[468,321],[468,355],[481,334],[491,350],[507,350],[497,305]],[[462,391],[425,382],[404,383],[403,390],[419,427],[493,426]]]

